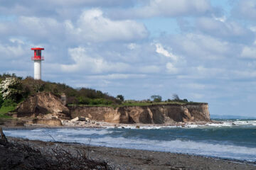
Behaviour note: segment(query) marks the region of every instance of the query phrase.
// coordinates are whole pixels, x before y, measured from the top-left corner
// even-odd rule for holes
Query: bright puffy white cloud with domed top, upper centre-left
[[[100,9],[84,11],[76,26],[71,21],[65,21],[66,30],[70,36],[75,36],[80,42],[104,42],[108,40],[139,40],[146,38],[148,33],[142,23],[136,21],[112,21],[103,16]]]

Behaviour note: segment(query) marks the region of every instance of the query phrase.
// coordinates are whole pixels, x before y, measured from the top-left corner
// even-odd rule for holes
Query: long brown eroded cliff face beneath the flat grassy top
[[[151,106],[124,106],[119,108],[97,106],[70,107],[72,118],[85,116],[109,123],[175,123],[210,121],[207,103],[164,104]]]

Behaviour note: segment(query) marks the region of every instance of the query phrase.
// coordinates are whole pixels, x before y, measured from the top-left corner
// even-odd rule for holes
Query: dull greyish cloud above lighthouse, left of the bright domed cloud
[[[4,27],[2,27],[4,26]],[[0,21],[0,35],[20,37],[32,42],[46,42],[65,38],[63,23],[54,18],[18,16],[14,21]]]

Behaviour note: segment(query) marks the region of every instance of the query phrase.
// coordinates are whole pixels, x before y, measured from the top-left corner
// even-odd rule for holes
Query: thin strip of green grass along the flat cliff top
[[[98,104],[98,105],[75,105],[75,104],[69,104],[68,106],[98,106],[98,107],[103,107],[103,106],[108,106],[112,108],[119,108],[119,107],[124,107],[124,106],[152,106],[152,105],[166,105],[166,104],[176,104],[176,105],[184,105],[184,104],[201,104],[197,102],[181,102],[181,101],[162,101],[162,102],[126,102],[122,104],[110,104],[110,105],[105,105],[105,104]]]

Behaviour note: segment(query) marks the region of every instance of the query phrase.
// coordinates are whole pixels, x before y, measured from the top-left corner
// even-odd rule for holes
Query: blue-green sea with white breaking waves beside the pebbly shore
[[[30,140],[197,154],[256,163],[256,120],[186,127],[36,128],[4,130],[6,136]]]

